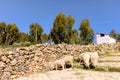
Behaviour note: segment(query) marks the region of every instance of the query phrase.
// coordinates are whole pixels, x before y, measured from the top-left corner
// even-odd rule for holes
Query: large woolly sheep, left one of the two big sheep
[[[78,57],[79,63],[82,64],[84,68],[89,67],[89,60],[90,60],[90,55],[88,53],[82,53]]]

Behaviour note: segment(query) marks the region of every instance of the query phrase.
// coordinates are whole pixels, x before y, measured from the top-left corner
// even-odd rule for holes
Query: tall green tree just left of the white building
[[[89,44],[93,42],[94,31],[90,28],[89,20],[84,19],[80,24],[80,43]]]

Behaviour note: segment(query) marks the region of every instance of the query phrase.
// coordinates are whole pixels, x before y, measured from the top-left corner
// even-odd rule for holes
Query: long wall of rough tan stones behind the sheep
[[[29,47],[0,48],[0,80],[10,80],[18,76],[42,71],[48,68],[50,61],[63,55],[77,56],[87,51],[97,51],[100,54],[120,50],[120,43],[116,44],[36,44]]]

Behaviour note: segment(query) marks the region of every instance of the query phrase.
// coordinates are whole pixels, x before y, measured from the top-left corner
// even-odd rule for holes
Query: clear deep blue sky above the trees
[[[74,29],[87,18],[95,33],[120,33],[120,0],[0,0],[0,22],[15,23],[21,32],[37,22],[49,34],[59,13],[75,18]]]

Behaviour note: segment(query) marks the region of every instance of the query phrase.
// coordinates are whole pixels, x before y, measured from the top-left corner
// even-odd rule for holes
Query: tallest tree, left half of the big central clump
[[[60,13],[54,20],[53,29],[51,29],[50,37],[55,44],[64,42],[66,32],[66,17]]]

